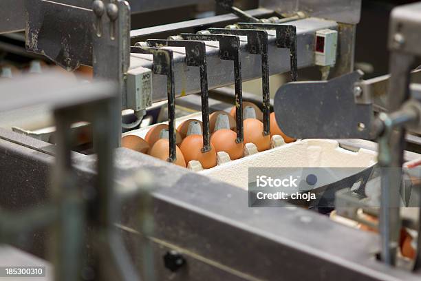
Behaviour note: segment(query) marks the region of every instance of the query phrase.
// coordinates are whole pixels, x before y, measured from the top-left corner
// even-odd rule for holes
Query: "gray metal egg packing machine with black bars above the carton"
[[[82,0],[72,5],[66,1],[29,2],[25,1],[28,50],[44,54],[67,70],[75,70],[81,64],[92,65],[94,77],[111,82],[119,94],[114,103],[101,103],[103,107],[84,101],[85,110],[70,107],[68,112],[66,107],[58,112],[58,147],[55,151],[43,141],[0,130],[1,151],[5,152],[1,154],[4,159],[1,165],[8,165],[1,186],[5,187],[5,194],[30,202],[21,205],[2,196],[3,208],[22,211],[34,204],[48,205],[51,198],[47,194],[56,189],[46,175],[54,161],[58,163],[54,175],[58,177],[58,183],[67,186],[65,192],[72,193],[76,186],[91,191],[56,198],[65,203],[66,199],[76,198],[85,206],[86,209],[71,208],[78,213],[73,214],[74,220],[68,220],[70,214],[62,213],[61,220],[57,221],[64,224],[63,229],[74,227],[70,225],[72,222],[79,224],[75,227],[78,231],[69,232],[79,240],[68,238],[79,244],[64,243],[62,253],[69,256],[84,253],[88,257],[78,263],[66,262],[69,256],[64,254],[52,260],[58,269],[55,272],[57,280],[336,280],[338,275],[344,280],[419,278],[418,260],[413,271],[388,266],[396,264],[397,232],[402,223],[399,208],[393,201],[400,191],[396,173],[381,175],[378,236],[350,229],[293,206],[248,208],[245,204],[247,193],[236,187],[118,147],[122,127],[120,109],[134,110],[141,120],[152,103],[167,100],[169,162],[173,162],[177,97],[200,93],[205,127],[202,151],[206,152],[209,145],[208,91],[233,84],[237,141],[241,142],[244,138],[241,86],[243,81],[257,78],[263,81],[261,104],[264,134],[268,134],[268,76],[290,72],[293,82],[281,87],[274,101],[277,121],[285,126],[285,132],[297,138],[378,138],[380,166],[400,168],[403,128],[409,126],[408,129],[418,130],[420,116],[416,85],[411,87],[413,98],[404,103],[409,99],[411,59],[418,55],[416,42],[411,41],[415,39],[411,36],[419,27],[413,17],[405,15],[405,9],[416,10],[413,8],[418,6],[402,7],[393,14],[393,63],[388,92],[393,93],[389,94],[393,97],[389,112],[395,113],[374,118],[371,115],[374,94],[369,91],[376,82],[363,81],[360,72],[352,72],[360,1],[263,1],[263,6],[285,17],[279,17],[279,14],[272,17],[273,13],[266,8],[242,11],[232,1],[217,1],[237,17],[229,14],[144,30],[130,30],[131,10],[126,1],[89,1],[91,6],[85,6],[87,1]],[[396,30],[397,26],[399,30]],[[400,44],[400,41],[404,43]],[[320,66],[323,76],[330,80],[295,82],[301,68],[315,65]],[[98,89],[102,87],[98,86]],[[307,106],[310,100],[318,104],[323,101],[325,107],[313,105],[310,108]],[[288,105],[289,108],[285,108]],[[331,119],[325,115],[327,111],[332,114],[326,109],[332,105],[354,110],[338,116],[338,123],[331,124],[331,129],[323,129],[321,122],[330,124]],[[297,125],[293,120],[300,120],[302,116],[298,118],[297,114],[304,110],[306,114],[302,116],[312,116],[312,122]],[[290,116],[287,116],[288,112]],[[316,114],[318,117],[314,118]],[[91,121],[97,155],[73,152],[70,156],[71,136],[67,128],[75,121],[75,116]],[[109,134],[106,136],[101,130],[107,126]],[[392,134],[397,127],[402,129],[397,135]],[[107,141],[102,143],[105,138]],[[6,171],[6,166],[1,168]],[[136,187],[127,187],[130,181],[127,178],[133,181],[133,173],[139,170],[147,174],[142,174],[141,180],[134,180]],[[67,172],[77,175],[69,177],[69,183],[65,183],[63,176]],[[148,202],[149,192],[138,194],[138,186],[151,185],[148,177],[154,185],[151,202]],[[16,178],[23,178],[19,185]],[[111,184],[114,181],[115,186]],[[112,198],[113,192],[125,192],[127,201],[117,204],[115,200],[120,199],[119,196]],[[362,203],[353,196],[344,192],[338,194],[349,207],[358,209]],[[67,202],[70,203],[74,202]],[[7,213],[0,222],[13,216]],[[347,213],[343,212],[341,216],[346,217]],[[86,231],[80,226],[84,223],[91,229]],[[20,247],[46,258],[50,234],[43,229],[44,225],[36,231],[10,227],[9,233],[2,232],[1,242],[10,242],[6,238],[14,233],[30,233],[24,236],[26,243]],[[125,247],[120,247],[122,243]],[[122,253],[121,249],[127,249],[128,253]],[[101,253],[105,256],[101,257]],[[381,261],[376,259],[378,253]],[[113,260],[109,260],[109,256]],[[309,268],[312,270],[303,270]]]

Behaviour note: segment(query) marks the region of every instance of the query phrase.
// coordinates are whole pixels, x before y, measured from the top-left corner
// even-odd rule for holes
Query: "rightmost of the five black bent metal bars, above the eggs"
[[[298,80],[298,61],[296,55],[296,28],[294,25],[277,23],[237,23],[239,28],[257,30],[276,30],[277,47],[290,50],[291,81]]]

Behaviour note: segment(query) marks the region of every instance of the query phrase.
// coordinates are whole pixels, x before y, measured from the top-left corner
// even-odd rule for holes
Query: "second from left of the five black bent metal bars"
[[[188,40],[159,40],[147,41],[151,47],[184,47],[186,51],[186,65],[199,67],[200,93],[202,96],[202,124],[203,124],[203,148],[202,152],[210,151],[210,128],[209,128],[209,94],[208,94],[208,70],[206,61],[206,45],[202,41]]]

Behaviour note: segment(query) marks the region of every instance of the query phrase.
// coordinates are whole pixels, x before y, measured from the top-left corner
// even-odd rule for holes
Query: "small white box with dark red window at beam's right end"
[[[338,32],[330,29],[318,30],[314,48],[316,65],[334,65],[338,48]]]

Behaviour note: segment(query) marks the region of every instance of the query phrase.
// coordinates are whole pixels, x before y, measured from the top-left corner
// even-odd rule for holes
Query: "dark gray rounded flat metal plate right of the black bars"
[[[283,85],[274,98],[279,127],[293,138],[372,138],[371,104],[354,102],[361,76],[356,71],[330,81]]]

